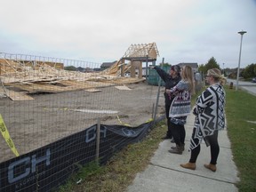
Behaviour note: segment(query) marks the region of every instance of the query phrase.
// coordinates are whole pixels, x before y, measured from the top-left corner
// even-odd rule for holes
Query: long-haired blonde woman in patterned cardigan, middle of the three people
[[[181,80],[171,90],[166,90],[170,97],[174,98],[170,107],[169,117],[172,126],[172,136],[176,147],[169,152],[182,154],[185,141],[185,127],[187,116],[190,114],[191,94],[195,92],[194,73],[191,67],[184,66],[181,69]]]

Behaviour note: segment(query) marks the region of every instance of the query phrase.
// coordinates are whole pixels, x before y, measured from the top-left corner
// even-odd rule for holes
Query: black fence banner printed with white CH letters
[[[160,121],[160,117],[155,121]],[[147,136],[153,121],[138,127],[100,124],[100,164],[125,146]],[[44,192],[63,185],[78,165],[96,158],[97,124],[43,148],[12,158],[0,164],[0,191]]]

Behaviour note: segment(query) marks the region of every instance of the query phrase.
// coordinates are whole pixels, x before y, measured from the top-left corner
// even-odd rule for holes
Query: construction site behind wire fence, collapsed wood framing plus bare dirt
[[[0,56],[1,129],[8,130],[19,155],[84,130],[98,119],[101,124],[138,126],[156,110],[157,116],[164,114],[164,90],[156,106],[158,88],[142,77],[142,63],[156,65],[155,43],[132,44],[110,68],[92,73],[65,70],[67,60]],[[131,76],[124,76],[127,72]],[[4,139],[1,162],[15,157]]]

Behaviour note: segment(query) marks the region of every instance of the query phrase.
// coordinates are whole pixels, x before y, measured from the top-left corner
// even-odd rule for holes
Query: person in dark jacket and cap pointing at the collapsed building
[[[172,87],[178,84],[181,80],[180,66],[178,65],[172,66],[169,74],[166,73],[164,69],[159,68],[157,66],[153,68],[156,69],[157,74],[163,79],[165,83],[165,91],[166,89],[168,90],[172,89]],[[164,92],[164,99],[165,99],[165,114],[167,118],[167,128],[168,128],[166,135],[163,138],[165,140],[165,139],[172,139],[172,128],[170,124],[169,110],[170,110],[170,106],[172,104],[173,98],[170,98],[170,96],[166,92]]]

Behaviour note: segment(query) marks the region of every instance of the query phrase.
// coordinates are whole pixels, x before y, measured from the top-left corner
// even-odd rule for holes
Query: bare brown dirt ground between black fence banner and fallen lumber
[[[129,88],[124,90],[120,88]],[[61,93],[37,93],[35,100],[12,101],[0,97],[0,114],[20,155],[43,147],[92,124],[138,126],[152,117],[158,87],[146,82],[121,87]],[[164,115],[164,87],[160,88],[157,116]],[[0,162],[15,157],[4,137],[0,139]]]

